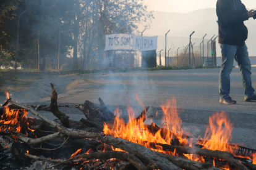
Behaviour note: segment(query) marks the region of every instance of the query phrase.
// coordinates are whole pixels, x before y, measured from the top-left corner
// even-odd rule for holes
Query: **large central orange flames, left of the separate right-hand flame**
[[[138,95],[137,99],[140,105],[142,102],[139,100]],[[144,106],[142,106],[145,109]],[[173,108],[174,107],[174,108]],[[161,143],[161,144],[169,144],[171,145],[171,141],[174,136],[179,139],[179,142],[182,145],[186,145],[186,139],[182,139],[183,130],[181,129],[181,119],[177,114],[176,110],[176,99],[173,98],[172,101],[166,103],[166,105],[161,105],[161,108],[164,112],[163,124],[165,124],[165,130],[160,129],[155,134],[148,128],[147,124],[144,124],[145,115],[139,119],[136,119],[135,112],[132,107],[127,107],[127,111],[129,113],[129,123],[125,124],[124,119],[116,117],[114,119],[114,124],[106,124],[104,126],[103,131],[105,134],[120,137],[125,140],[129,140],[130,142],[134,142],[140,145],[144,145],[145,147],[151,148],[152,150],[156,150],[158,152],[164,152],[162,148],[159,146],[158,149],[152,148],[150,144],[152,143]],[[117,111],[115,112],[117,113]],[[155,124],[152,124],[155,127]],[[175,133],[175,135],[174,135]],[[167,153],[167,152],[165,152]],[[170,152],[168,152],[170,153]],[[172,153],[170,153],[172,154]]]

